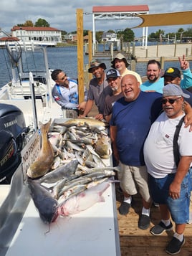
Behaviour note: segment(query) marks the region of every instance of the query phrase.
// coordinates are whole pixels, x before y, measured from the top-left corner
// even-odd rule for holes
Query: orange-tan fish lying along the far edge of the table
[[[102,129],[105,129],[107,127],[107,123],[102,122],[100,120],[96,120],[94,118],[74,118],[74,119],[69,119],[65,121],[64,123],[60,125],[85,125],[88,124],[90,127],[97,127]]]

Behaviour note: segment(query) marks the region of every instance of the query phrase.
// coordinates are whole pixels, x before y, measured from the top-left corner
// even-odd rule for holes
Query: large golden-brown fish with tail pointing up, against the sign
[[[52,144],[48,138],[48,132],[51,125],[52,119],[49,122],[43,124],[39,122],[40,130],[42,134],[42,148],[40,150],[38,158],[29,166],[27,170],[27,175],[34,179],[47,174],[47,172],[51,169],[53,161],[54,161],[54,151],[52,148]]]

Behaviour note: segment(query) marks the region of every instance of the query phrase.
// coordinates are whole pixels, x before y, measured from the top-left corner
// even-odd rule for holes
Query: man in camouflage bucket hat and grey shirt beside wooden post
[[[99,111],[95,118],[98,120],[103,119],[105,97],[106,95],[112,93],[112,90],[108,86],[104,70],[106,70],[105,63],[99,62],[98,60],[92,60],[90,62],[90,68],[88,69],[88,72],[92,73],[94,78],[90,80],[87,95],[88,100],[85,105],[83,115],[80,115],[81,118],[87,116],[87,114],[90,113],[93,103],[95,102],[95,105],[97,105]]]

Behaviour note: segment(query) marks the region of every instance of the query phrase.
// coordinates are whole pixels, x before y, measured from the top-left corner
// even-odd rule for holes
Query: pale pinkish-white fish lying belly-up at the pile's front
[[[86,189],[76,196],[70,197],[64,202],[61,202],[57,211],[59,216],[67,217],[77,214],[92,207],[97,202],[105,202],[102,194],[109,186],[110,182],[105,181],[97,186],[92,186],[90,189]]]

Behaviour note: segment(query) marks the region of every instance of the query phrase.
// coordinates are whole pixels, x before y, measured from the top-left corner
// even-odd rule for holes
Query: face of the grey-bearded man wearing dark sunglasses
[[[167,96],[162,98],[162,107],[168,118],[177,118],[183,113],[183,97]]]

